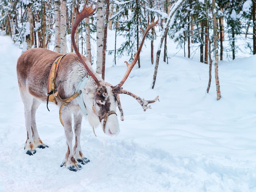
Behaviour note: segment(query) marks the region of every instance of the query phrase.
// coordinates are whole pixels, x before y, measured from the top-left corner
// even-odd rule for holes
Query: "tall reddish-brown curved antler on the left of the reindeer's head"
[[[79,10],[78,10],[79,4],[77,3],[77,5],[76,5],[76,21],[75,21],[75,23],[74,23],[74,25],[72,27],[72,30],[71,30],[71,42],[72,42],[72,45],[74,47],[74,50],[76,52],[76,55],[77,55],[78,59],[81,61],[81,63],[83,63],[83,65],[86,68],[87,72],[92,77],[94,82],[97,84],[98,89],[100,89],[101,85],[100,85],[99,80],[93,74],[93,72],[90,70],[90,68],[86,65],[85,61],[83,60],[81,54],[79,53],[79,51],[78,51],[78,49],[76,47],[76,42],[75,42],[75,32],[76,32],[76,28],[78,27],[79,23],[84,18],[91,16],[96,11],[96,7],[94,9],[92,9],[92,4],[89,7],[86,7],[86,4],[87,4],[87,0],[86,0],[86,2],[84,4],[84,8],[83,8],[82,12],[79,12]]]

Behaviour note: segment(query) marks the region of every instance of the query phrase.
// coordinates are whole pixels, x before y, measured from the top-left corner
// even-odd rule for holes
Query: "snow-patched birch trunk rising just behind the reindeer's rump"
[[[26,21],[26,42],[23,44],[22,52],[31,49],[33,41],[33,15],[31,9],[31,3],[27,5],[27,21]]]

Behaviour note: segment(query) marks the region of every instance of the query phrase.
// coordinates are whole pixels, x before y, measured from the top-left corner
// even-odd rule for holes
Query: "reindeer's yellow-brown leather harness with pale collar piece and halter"
[[[48,86],[47,86],[47,109],[48,111],[49,108],[48,108],[48,101],[52,101],[54,102],[56,105],[58,104],[56,98],[58,100],[60,100],[62,102],[62,105],[60,106],[60,111],[59,111],[59,114],[60,114],[60,123],[64,126],[64,123],[62,121],[62,118],[61,118],[61,111],[62,111],[62,108],[67,105],[70,101],[74,100],[76,98],[76,101],[79,105],[79,107],[82,109],[84,115],[87,115],[87,110],[86,110],[86,107],[85,107],[85,104],[84,104],[84,99],[83,99],[83,94],[82,94],[82,88],[85,87],[87,81],[88,81],[88,76],[90,76],[89,74],[87,74],[86,76],[84,76],[84,78],[79,82],[79,84],[77,85],[76,87],[76,92],[71,95],[70,97],[66,98],[66,99],[62,99],[60,97],[60,95],[58,94],[58,91],[55,89],[55,81],[56,81],[56,75],[57,75],[57,72],[58,72],[58,67],[59,67],[59,64],[60,64],[60,61],[61,59],[64,57],[65,55],[62,55],[60,57],[58,57],[53,63],[52,63],[52,68],[51,68],[51,71],[50,71],[50,74],[49,74],[49,77],[48,77]],[[96,114],[96,110],[94,108],[94,105],[92,105],[92,110],[93,112]],[[99,120],[101,122],[102,119],[104,119],[103,121],[103,124],[102,124],[102,129],[103,129],[103,132],[105,133],[105,125],[107,123],[107,119],[108,119],[108,116],[111,115],[111,114],[116,114],[115,111],[109,111],[107,113],[105,113],[103,116],[99,117]],[[117,114],[116,114],[117,116]],[[94,127],[93,128],[93,133],[95,134],[94,132]],[[96,136],[96,134],[95,134]]]

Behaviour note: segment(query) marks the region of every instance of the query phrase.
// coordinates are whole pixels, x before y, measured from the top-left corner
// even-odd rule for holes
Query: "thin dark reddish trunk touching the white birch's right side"
[[[104,26],[103,52],[102,52],[102,74],[101,78],[105,79],[105,63],[106,63],[106,48],[107,48],[107,32],[108,32],[108,14],[109,14],[109,0],[106,0],[106,18]]]

